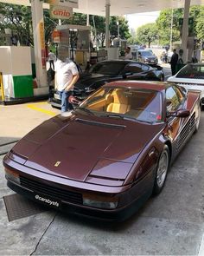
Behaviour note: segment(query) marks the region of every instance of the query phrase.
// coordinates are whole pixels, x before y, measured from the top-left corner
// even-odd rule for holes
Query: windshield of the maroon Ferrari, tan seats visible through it
[[[80,108],[94,115],[162,121],[162,95],[150,89],[102,88],[82,102]]]

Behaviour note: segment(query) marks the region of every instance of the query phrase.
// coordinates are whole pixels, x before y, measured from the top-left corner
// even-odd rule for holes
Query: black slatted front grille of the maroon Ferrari
[[[82,194],[80,193],[68,191],[59,187],[50,186],[39,181],[29,180],[28,178],[22,176],[20,176],[20,182],[22,187],[29,188],[36,193],[45,194],[50,197],[54,197],[55,199],[64,200],[75,204],[82,205],[83,203]]]

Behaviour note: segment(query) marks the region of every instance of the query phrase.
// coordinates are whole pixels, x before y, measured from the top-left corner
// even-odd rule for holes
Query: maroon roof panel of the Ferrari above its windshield
[[[114,81],[104,85],[104,87],[119,87],[130,89],[152,89],[155,91],[163,91],[171,86],[168,82],[142,82],[142,81]]]

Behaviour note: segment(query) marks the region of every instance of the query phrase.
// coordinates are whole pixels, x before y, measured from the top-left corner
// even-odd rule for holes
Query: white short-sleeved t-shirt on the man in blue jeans
[[[59,91],[66,89],[68,83],[73,80],[73,75],[79,74],[77,66],[71,60],[66,60],[66,62],[61,62],[61,60],[58,60],[55,62],[54,70],[56,87]]]

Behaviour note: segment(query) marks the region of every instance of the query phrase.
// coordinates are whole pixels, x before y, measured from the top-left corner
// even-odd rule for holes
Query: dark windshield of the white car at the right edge
[[[177,78],[204,79],[204,65],[188,64],[176,75]]]

